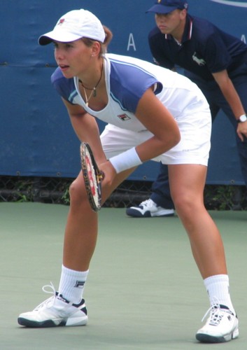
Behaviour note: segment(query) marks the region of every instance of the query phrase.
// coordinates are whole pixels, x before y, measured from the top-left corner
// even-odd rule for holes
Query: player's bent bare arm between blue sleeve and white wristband
[[[157,99],[152,87],[141,97],[135,116],[153,133],[153,137],[136,146],[136,152],[142,162],[169,151],[180,141],[176,120]]]

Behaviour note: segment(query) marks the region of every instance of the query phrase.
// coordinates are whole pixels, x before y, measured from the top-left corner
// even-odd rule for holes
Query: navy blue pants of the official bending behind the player
[[[225,116],[227,116],[227,118],[230,120],[232,127],[234,127],[241,172],[243,175],[244,183],[246,183],[247,186],[247,138],[245,137],[243,142],[241,139],[239,139],[236,132],[238,125],[237,120],[234,117],[229,104],[225,100],[225,97],[223,97],[218,84],[215,80],[206,82],[205,80],[202,80],[187,71],[185,72],[185,75],[194,81],[204,93],[206,99],[209,102],[212,120],[215,120],[218,111],[221,109],[225,113]],[[241,102],[244,106],[244,110],[247,113],[247,62],[239,65],[237,69],[230,73],[230,78],[239,94]],[[160,165],[160,172],[157,176],[156,181],[153,183],[152,194],[150,198],[160,207],[167,209],[174,208],[174,203],[171,200],[171,193],[169,189],[167,165]]]

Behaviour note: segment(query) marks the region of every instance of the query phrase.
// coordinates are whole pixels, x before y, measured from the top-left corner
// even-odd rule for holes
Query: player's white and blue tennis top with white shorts
[[[207,165],[211,113],[206,98],[195,83],[169,69],[121,55],[106,54],[104,71],[108,104],[101,111],[94,111],[86,106],[80,96],[78,78],[66,79],[57,68],[52,74],[52,84],[68,102],[83,106],[92,116],[108,123],[101,134],[107,158],[137,146],[153,136],[134,113],[143,93],[155,85],[157,98],[178,123],[181,141],[154,160],[164,164]],[[155,111],[153,115],[155,116]]]

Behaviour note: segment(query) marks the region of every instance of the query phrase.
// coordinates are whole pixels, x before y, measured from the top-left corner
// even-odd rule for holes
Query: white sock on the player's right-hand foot
[[[209,294],[210,304],[215,304],[216,300],[219,304],[229,307],[234,311],[232,300],[230,297],[229,277],[227,274],[217,274],[204,279],[206,291]]]

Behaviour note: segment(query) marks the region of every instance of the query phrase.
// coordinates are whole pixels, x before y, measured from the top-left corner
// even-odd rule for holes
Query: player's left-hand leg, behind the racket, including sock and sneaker
[[[132,171],[118,174],[107,190],[104,189],[104,182],[102,183],[103,202]],[[90,207],[83,175],[80,172],[70,187],[70,208],[64,235],[64,256],[58,292],[52,285],[45,286],[43,290],[52,293],[52,297],[33,311],[20,314],[20,325],[37,328],[87,323],[83,289],[97,241],[97,225],[97,214]],[[48,287],[51,288],[50,292]]]

